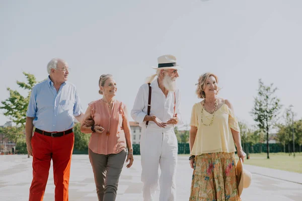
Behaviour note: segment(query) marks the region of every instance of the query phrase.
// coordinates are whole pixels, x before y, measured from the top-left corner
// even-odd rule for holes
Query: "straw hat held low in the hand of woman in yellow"
[[[248,188],[251,185],[252,174],[251,172],[243,168],[243,162],[241,158],[236,164],[236,172],[237,172],[238,194],[240,196],[243,188]]]

